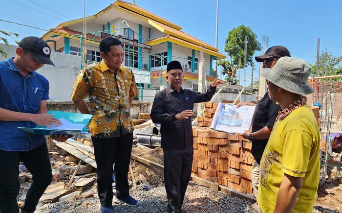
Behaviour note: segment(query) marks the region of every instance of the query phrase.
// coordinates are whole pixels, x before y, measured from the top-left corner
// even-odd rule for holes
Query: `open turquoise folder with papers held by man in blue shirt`
[[[68,135],[83,138],[90,134],[86,127],[92,115],[61,111],[48,111],[47,114],[54,115],[53,118],[59,119],[62,125],[51,125],[50,128],[41,125],[36,125],[34,128],[18,128],[34,135]]]

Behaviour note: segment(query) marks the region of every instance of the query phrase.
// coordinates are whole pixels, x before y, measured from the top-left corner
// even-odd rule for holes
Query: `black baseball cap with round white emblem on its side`
[[[30,51],[36,61],[55,66],[50,59],[51,48],[43,39],[28,36],[19,42],[19,47]]]

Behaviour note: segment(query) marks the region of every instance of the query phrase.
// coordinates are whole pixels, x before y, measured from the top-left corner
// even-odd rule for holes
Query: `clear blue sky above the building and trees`
[[[0,20],[50,29],[58,24],[94,15],[115,0],[0,0]],[[127,0],[132,2],[131,0]],[[39,5],[38,5],[39,4]],[[136,4],[174,24],[182,31],[215,46],[216,0],[136,0]],[[317,38],[321,51],[342,55],[342,0],[219,0],[218,49],[224,52],[228,32],[244,24],[250,26],[262,43],[268,35],[269,45],[287,47],[292,57],[316,62]],[[6,37],[10,44],[26,36],[42,36],[46,31],[0,21],[0,30],[19,33]],[[256,52],[255,55],[260,55]],[[258,69],[256,63],[256,69]],[[255,80],[258,71],[254,74]],[[242,85],[249,85],[251,68],[247,68]],[[241,71],[244,79],[244,71]]]

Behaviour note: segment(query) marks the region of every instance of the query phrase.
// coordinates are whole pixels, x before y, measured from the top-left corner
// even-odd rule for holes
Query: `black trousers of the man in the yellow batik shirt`
[[[128,168],[132,152],[133,133],[116,138],[93,138],[95,161],[97,165],[97,191],[101,206],[112,206],[113,164],[115,189],[118,198],[129,195]]]

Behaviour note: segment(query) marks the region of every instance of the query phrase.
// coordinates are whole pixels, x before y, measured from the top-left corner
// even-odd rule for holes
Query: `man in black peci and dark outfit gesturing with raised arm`
[[[171,61],[166,72],[166,79],[170,86],[155,95],[151,118],[154,123],[161,124],[168,210],[172,213],[181,213],[193,158],[191,123],[193,104],[210,101],[216,86],[225,81],[217,78],[210,84],[206,93],[197,93],[182,89],[183,70],[178,61]]]

